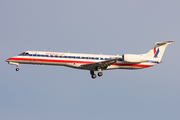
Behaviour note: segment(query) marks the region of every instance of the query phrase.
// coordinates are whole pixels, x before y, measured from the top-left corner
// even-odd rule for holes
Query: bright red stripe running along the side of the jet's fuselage
[[[33,61],[33,62],[59,62],[59,63],[81,63],[81,64],[90,64],[90,63],[96,63],[96,62],[90,62],[90,61],[73,61],[73,60],[51,60],[51,59],[32,59],[32,58],[9,58],[7,59],[7,61]],[[143,67],[143,68],[146,68],[146,67],[151,67],[153,65],[142,65],[142,64],[124,64],[124,63],[115,63],[113,65],[116,65],[116,66],[131,66],[131,67]]]

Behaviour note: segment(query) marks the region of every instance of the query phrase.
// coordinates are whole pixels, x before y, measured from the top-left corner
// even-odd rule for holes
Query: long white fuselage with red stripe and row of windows
[[[41,52],[41,51],[26,51],[17,56],[11,57],[6,61],[9,64],[39,64],[39,65],[59,65],[68,66],[77,69],[81,65],[97,63],[111,60],[114,58],[122,58],[119,55],[101,55],[101,54],[79,54],[79,53],[64,53],[64,52]],[[142,63],[127,63],[122,59],[107,67],[109,69],[141,69],[156,65],[157,62],[146,61]]]

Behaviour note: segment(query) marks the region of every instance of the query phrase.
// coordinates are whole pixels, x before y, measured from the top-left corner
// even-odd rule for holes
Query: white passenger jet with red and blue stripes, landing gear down
[[[91,77],[96,78],[103,75],[103,70],[111,69],[142,69],[152,67],[161,63],[162,56],[168,44],[174,41],[156,42],[154,47],[145,54],[101,55],[101,54],[79,54],[64,52],[42,52],[26,51],[6,60],[8,64],[57,65],[76,69],[89,70]]]

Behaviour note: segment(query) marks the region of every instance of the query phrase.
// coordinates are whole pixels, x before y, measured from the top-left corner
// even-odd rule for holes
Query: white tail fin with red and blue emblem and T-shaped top
[[[157,61],[161,61],[164,51],[167,45],[171,44],[174,41],[167,41],[167,42],[157,42],[155,46],[143,56],[148,59],[156,59]]]

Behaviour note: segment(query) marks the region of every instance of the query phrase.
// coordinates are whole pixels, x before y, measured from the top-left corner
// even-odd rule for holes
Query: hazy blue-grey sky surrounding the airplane
[[[179,120],[178,0],[0,1],[1,120]],[[122,55],[175,40],[163,63],[142,70],[89,71],[8,65],[23,51]]]

